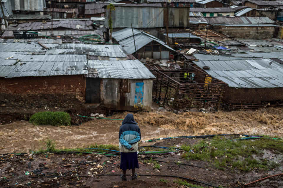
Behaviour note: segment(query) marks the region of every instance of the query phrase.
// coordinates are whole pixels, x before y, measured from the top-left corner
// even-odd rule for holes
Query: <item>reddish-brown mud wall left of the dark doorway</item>
[[[85,100],[85,77],[83,75],[0,78],[1,93],[11,94],[69,94]]]

